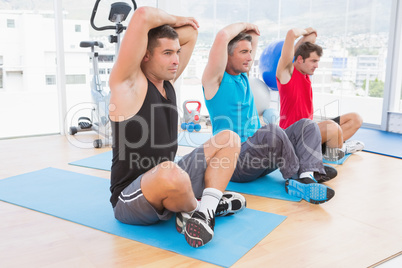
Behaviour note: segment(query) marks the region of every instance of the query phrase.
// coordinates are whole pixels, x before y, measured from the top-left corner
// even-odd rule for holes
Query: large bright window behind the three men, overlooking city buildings
[[[191,14],[201,25],[192,56],[196,72],[193,67],[190,72],[189,63],[183,73],[186,90],[178,94],[179,103],[192,98],[193,92],[197,92],[197,99],[203,100],[202,92],[198,94],[199,85],[194,90],[187,90],[192,86],[187,85],[187,81],[194,83],[194,78],[186,79],[185,75],[195,75],[200,83],[214,37],[224,26],[238,21],[259,26],[261,36],[254,62],[256,68],[250,71],[251,76],[261,75],[257,68],[261,61],[257,60],[270,43],[283,40],[291,28],[311,26],[317,29],[317,44],[324,49],[311,79],[316,116],[335,117],[357,112],[365,123],[381,125],[386,61],[390,56],[387,56],[387,49],[392,0],[368,0],[364,5],[355,0],[190,2],[180,1],[180,7],[169,7],[171,12],[180,10],[178,15]]]

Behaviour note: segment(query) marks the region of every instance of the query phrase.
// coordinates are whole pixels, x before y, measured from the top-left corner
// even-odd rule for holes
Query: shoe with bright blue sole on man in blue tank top
[[[312,178],[289,179],[285,184],[286,192],[291,196],[301,197],[311,204],[327,202],[335,195],[330,187],[319,184]]]

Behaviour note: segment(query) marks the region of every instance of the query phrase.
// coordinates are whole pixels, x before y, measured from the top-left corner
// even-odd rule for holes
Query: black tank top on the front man
[[[176,93],[164,81],[166,96],[148,80],[148,91],[138,113],[112,122],[113,159],[110,202],[115,207],[119,194],[138,176],[164,161],[173,161],[177,151],[178,113]]]

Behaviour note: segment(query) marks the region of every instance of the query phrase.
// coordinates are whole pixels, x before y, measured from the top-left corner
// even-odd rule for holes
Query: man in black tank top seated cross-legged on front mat
[[[176,213],[176,228],[193,247],[212,239],[215,216],[245,207],[241,195],[223,193],[240,152],[237,134],[223,131],[173,162],[178,130],[173,83],[190,60],[197,28],[194,18],[140,7],[109,79],[115,217],[147,225]]]

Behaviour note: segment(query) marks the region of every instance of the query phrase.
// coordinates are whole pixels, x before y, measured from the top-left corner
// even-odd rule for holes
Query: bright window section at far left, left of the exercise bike
[[[47,58],[55,55],[55,23],[46,16],[52,10],[53,1],[42,0],[1,7],[0,126],[7,127],[0,139],[59,132],[57,91],[46,86],[46,75],[55,70]],[[32,39],[37,36],[41,40]]]

